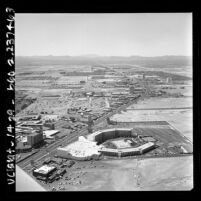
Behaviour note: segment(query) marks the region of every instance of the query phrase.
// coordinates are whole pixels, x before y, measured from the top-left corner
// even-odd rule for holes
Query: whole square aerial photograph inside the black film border
[[[192,13],[16,13],[16,192],[190,191]]]

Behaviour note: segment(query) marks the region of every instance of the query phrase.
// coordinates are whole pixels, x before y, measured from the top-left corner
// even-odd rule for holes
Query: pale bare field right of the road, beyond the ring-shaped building
[[[192,98],[149,98],[130,106],[127,111],[115,114],[114,121],[168,121],[183,135],[193,140],[192,109],[173,109],[192,107]],[[152,110],[153,108],[172,108],[168,110]],[[133,110],[132,110],[133,109]],[[134,110],[142,109],[142,110]],[[143,110],[151,109],[151,110]]]

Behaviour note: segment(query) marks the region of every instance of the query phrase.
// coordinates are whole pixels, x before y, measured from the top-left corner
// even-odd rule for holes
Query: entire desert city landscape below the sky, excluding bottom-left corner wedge
[[[192,110],[184,58],[17,57],[16,164],[47,191],[191,190]]]

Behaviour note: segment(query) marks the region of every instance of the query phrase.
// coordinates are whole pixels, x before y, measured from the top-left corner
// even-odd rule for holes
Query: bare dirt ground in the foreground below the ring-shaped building
[[[192,164],[192,156],[81,162],[64,176],[70,181],[60,180],[50,184],[49,189],[60,186],[66,191],[191,190]]]

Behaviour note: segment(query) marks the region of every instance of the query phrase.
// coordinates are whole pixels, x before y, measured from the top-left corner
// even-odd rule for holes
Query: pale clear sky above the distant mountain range
[[[15,18],[16,56],[192,56],[191,13],[17,13]]]

